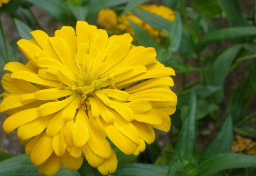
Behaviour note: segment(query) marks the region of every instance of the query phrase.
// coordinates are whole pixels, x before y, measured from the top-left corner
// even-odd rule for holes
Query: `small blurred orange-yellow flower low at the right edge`
[[[232,146],[233,153],[247,153],[256,156],[256,142],[249,139],[243,138],[240,135],[236,136]]]

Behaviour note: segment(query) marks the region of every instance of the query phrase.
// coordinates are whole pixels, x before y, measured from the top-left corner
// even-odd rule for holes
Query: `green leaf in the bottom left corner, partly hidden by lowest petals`
[[[0,162],[0,175],[42,175],[38,173],[38,167],[33,165],[26,154],[11,157]],[[77,171],[61,168],[56,175],[79,176]]]

